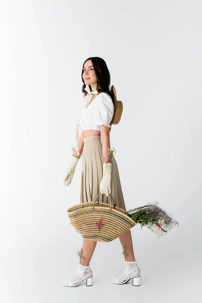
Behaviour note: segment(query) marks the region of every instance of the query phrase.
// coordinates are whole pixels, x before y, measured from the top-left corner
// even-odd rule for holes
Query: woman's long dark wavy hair
[[[84,93],[84,96],[86,96],[86,94],[88,92],[85,90],[86,85],[85,85],[85,82],[83,80],[83,67],[84,67],[84,64],[86,63],[86,61],[88,61],[88,60],[92,61],[94,72],[95,72],[95,75],[97,77],[96,90],[98,91],[98,93],[107,92],[111,96],[111,98],[113,100],[113,103],[114,103],[114,94],[113,94],[113,92],[110,91],[110,80],[111,80],[110,72],[109,72],[109,69],[107,67],[107,64],[106,64],[105,60],[102,59],[102,58],[99,58],[99,57],[89,57],[83,63],[82,72],[81,72],[81,79],[82,79],[82,82],[83,82],[82,92]],[[91,88],[90,85],[89,85],[89,88],[90,88],[90,91],[92,91],[92,88]]]

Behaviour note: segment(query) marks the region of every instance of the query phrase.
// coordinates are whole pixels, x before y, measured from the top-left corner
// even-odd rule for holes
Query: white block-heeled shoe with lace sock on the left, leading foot
[[[90,269],[90,266],[83,266],[79,263],[76,272],[68,281],[64,281],[63,285],[70,287],[78,286],[85,279],[86,279],[86,286],[93,285],[92,271]]]

